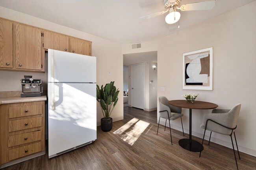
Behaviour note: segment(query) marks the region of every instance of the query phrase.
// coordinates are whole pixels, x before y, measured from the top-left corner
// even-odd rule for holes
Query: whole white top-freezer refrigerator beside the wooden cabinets
[[[48,157],[96,139],[96,57],[48,49]]]

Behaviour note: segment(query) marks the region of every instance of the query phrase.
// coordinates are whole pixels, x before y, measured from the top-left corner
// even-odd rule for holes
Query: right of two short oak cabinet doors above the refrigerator
[[[91,42],[70,37],[70,53],[91,55]]]

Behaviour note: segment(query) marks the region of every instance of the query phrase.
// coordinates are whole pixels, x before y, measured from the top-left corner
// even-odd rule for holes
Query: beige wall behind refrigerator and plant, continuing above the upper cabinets
[[[0,6],[0,17],[22,22],[32,26],[41,27],[58,33],[82,38],[92,41],[92,55],[97,57],[97,84],[106,84],[110,81],[115,81],[115,86],[121,89],[119,93],[119,102],[115,106],[111,117],[113,121],[123,119],[123,61],[122,61],[122,46],[115,42],[111,42],[104,38],[96,37],[88,33],[84,33],[69,27],[61,26],[40,18],[36,18],[24,13],[19,13]],[[113,66],[115,63],[115,66]],[[108,75],[110,71],[110,75]],[[19,80],[23,75],[27,73],[15,72],[15,71],[0,71],[0,91],[19,91],[21,90]],[[43,79],[47,82],[46,73],[31,73],[38,79]],[[3,82],[5,80],[6,82]],[[97,104],[97,124],[100,124],[102,113]]]

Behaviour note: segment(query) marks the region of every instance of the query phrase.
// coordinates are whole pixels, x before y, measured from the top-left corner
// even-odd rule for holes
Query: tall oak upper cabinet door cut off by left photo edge
[[[13,24],[0,19],[0,68],[13,67]]]

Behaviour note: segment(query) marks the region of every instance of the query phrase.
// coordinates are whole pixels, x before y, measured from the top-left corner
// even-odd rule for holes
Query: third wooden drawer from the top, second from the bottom
[[[22,133],[19,135],[9,136],[8,147],[17,146],[20,144],[26,144],[35,141],[41,141],[42,131],[38,130],[35,132]]]

